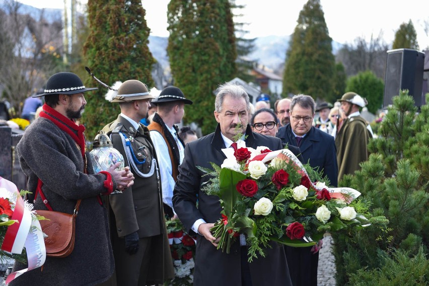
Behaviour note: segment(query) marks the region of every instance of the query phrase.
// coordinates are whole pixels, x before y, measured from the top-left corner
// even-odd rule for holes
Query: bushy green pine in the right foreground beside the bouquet
[[[429,94],[426,94],[427,100]],[[337,285],[348,285],[350,275],[359,269],[368,273],[382,267],[387,263],[386,258],[392,257],[392,250],[401,249],[407,255],[415,255],[422,249],[425,255],[428,254],[428,129],[429,106],[421,106],[417,113],[413,98],[401,91],[393,98],[393,106],[388,108],[379,137],[370,141],[369,160],[362,163],[361,170],[354,175],[345,175],[339,182],[340,186],[360,190],[362,197],[372,202],[374,215],[385,216],[389,223],[382,227],[382,231],[364,229],[352,238],[332,235]],[[412,272],[415,271],[413,265],[417,266],[403,264],[402,267],[408,267],[407,271]],[[365,275],[360,277],[366,279]],[[353,276],[354,281],[355,278]],[[408,284],[420,285],[418,277],[410,279]]]

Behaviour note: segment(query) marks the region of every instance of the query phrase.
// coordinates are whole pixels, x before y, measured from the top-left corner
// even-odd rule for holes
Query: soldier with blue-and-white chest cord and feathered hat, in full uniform
[[[163,284],[174,277],[157,156],[149,130],[139,123],[148,116],[153,98],[146,84],[123,82],[111,99],[121,113],[103,129],[135,173],[131,190],[109,197],[118,285]]]

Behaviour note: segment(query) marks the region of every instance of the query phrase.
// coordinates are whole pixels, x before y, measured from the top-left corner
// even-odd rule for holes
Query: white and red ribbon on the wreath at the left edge
[[[18,221],[8,227],[2,250],[21,254],[25,246],[28,260],[28,268],[9,274],[6,279],[8,284],[21,274],[42,266],[46,259],[46,248],[39,221],[30,210],[25,208],[17,186],[3,177],[0,177],[0,197],[7,198],[15,204],[11,219]]]

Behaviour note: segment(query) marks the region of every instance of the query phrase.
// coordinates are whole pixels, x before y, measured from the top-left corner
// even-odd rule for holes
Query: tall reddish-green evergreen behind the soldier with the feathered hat
[[[84,46],[87,66],[97,78],[108,85],[117,80],[138,79],[151,88],[155,60],[149,51],[150,29],[145,20],[141,1],[93,0],[88,2],[90,34]],[[87,76],[85,85],[97,86]],[[92,140],[106,124],[115,120],[119,105],[104,99],[107,89],[91,92],[82,121],[87,127],[88,140]]]

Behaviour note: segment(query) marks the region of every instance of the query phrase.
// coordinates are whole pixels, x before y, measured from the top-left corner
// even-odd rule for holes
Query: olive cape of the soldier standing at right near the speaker
[[[372,138],[367,122],[361,116],[346,119],[335,137],[338,180],[345,174],[360,170],[359,164],[368,160],[368,142]]]

